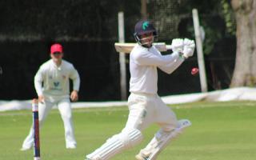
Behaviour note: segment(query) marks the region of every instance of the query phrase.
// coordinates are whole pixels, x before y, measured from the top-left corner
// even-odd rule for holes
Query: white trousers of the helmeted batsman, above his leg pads
[[[158,94],[131,93],[128,98],[129,116],[125,129],[144,130],[156,123],[163,131],[169,132],[178,126],[174,111],[166,106]]]

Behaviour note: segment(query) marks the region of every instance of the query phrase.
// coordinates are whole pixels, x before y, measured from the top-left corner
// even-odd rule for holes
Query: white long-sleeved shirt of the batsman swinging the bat
[[[130,52],[130,92],[142,94],[157,94],[157,67],[170,74],[184,61],[178,52],[162,55],[155,46],[146,48],[134,46]]]

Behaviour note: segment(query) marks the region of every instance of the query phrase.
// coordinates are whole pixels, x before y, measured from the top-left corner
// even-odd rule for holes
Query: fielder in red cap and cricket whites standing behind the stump
[[[53,106],[58,106],[64,123],[66,148],[76,148],[74,126],[70,99],[78,100],[80,78],[74,66],[62,59],[62,45],[56,43],[50,47],[50,60],[40,66],[34,77],[34,87],[38,94],[38,114],[40,128]],[[70,94],[70,79],[73,81],[73,91]],[[21,150],[29,150],[34,144],[33,127],[22,144]]]

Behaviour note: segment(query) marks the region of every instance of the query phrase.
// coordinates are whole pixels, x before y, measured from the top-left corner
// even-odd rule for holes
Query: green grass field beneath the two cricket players
[[[160,154],[158,160],[255,160],[256,102],[198,102],[171,106],[178,118],[193,123]],[[126,123],[126,106],[73,110],[78,148],[66,150],[64,129],[58,110],[51,110],[40,132],[43,160],[84,159],[106,138],[118,134]],[[0,159],[33,159],[33,150],[20,151],[28,134],[30,110],[0,112]],[[158,130],[143,131],[144,140],[114,160],[131,160]]]

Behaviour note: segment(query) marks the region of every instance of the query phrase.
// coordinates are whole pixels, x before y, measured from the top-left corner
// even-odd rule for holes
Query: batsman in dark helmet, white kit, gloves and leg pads
[[[187,119],[178,120],[174,111],[158,96],[158,70],[171,74],[194,54],[194,41],[177,38],[172,41],[173,54],[162,55],[153,45],[157,32],[153,24],[142,20],[135,25],[136,46],[130,53],[129,116],[121,133],[86,155],[87,160],[107,160],[142,141],[142,130],[156,123],[160,127],[149,144],[136,155],[138,160],[154,160],[182,131],[190,126]]]

